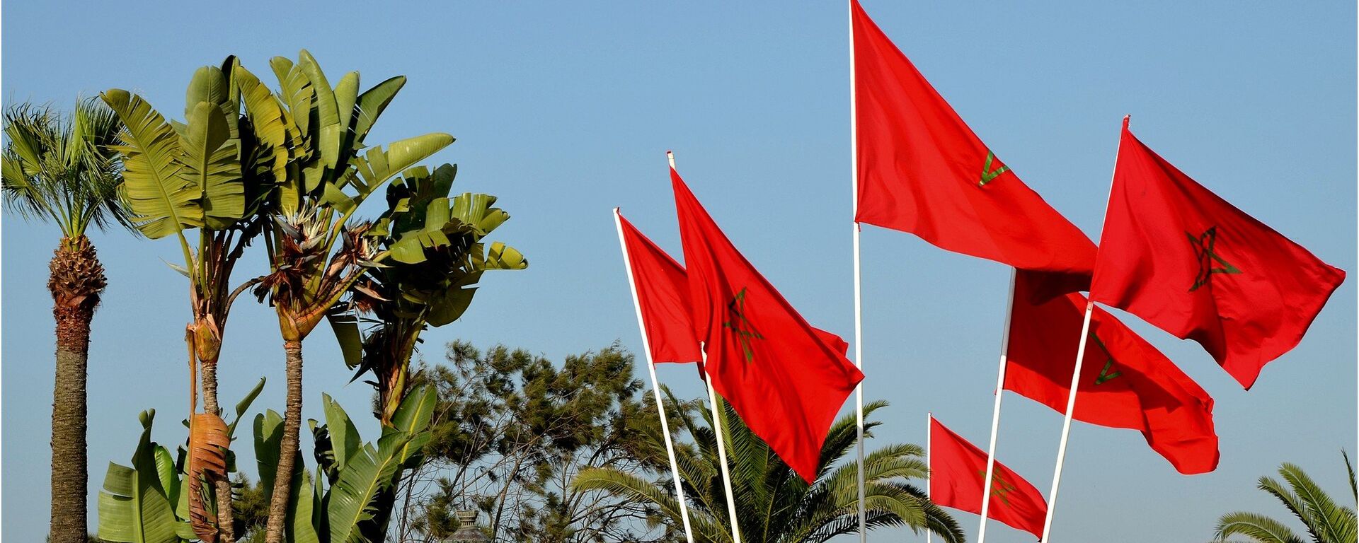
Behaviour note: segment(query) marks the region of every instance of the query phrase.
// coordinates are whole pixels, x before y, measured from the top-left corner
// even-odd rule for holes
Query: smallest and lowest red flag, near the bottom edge
[[[930,501],[981,514],[981,489],[987,479],[987,452],[930,418]],[[1033,485],[996,462],[991,474],[991,506],[987,516],[1011,528],[1042,538],[1048,502]]]

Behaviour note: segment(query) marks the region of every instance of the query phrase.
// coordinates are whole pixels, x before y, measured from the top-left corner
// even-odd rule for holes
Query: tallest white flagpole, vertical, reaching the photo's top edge
[[[855,103],[855,73],[853,73],[853,1],[845,3],[849,7],[849,171],[853,189],[853,214],[859,214],[859,121],[858,105]],[[859,223],[853,227],[853,362],[863,371],[863,288],[859,267]],[[859,466],[859,543],[868,540],[867,509],[864,508],[864,478],[863,478],[863,381],[853,388],[855,424],[858,441],[855,453]]]

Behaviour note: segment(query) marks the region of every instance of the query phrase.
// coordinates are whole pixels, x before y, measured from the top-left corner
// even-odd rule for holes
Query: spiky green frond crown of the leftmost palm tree
[[[121,128],[118,117],[92,99],[76,102],[65,118],[30,103],[7,107],[0,160],[5,205],[24,219],[56,223],[69,239],[91,224],[128,225],[117,198],[121,166],[109,148]]]

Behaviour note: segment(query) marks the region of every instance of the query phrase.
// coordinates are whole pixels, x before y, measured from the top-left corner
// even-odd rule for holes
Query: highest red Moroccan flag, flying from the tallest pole
[[[1055,272],[1067,278],[1061,291],[1084,291],[1094,243],[1019,181],[863,7],[851,4],[855,221],[911,232],[949,251]]]

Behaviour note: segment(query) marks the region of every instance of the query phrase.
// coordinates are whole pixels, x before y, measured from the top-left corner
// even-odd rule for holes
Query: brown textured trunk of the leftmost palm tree
[[[106,284],[84,236],[63,239],[50,263],[52,316],[57,323],[56,386],[52,392],[52,543],[86,543],[86,371],[90,320]]]

